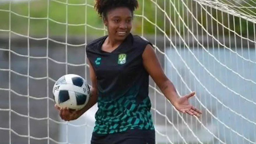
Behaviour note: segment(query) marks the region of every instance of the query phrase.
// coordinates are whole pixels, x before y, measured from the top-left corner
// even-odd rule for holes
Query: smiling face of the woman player
[[[125,7],[115,8],[107,13],[103,21],[108,28],[109,36],[122,41],[131,31],[132,13]]]

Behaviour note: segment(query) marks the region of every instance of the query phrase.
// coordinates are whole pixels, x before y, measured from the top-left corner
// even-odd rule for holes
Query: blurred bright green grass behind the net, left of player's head
[[[89,1],[89,0],[88,0]],[[62,2],[65,2],[62,0]],[[74,0],[72,4],[82,4],[84,0]],[[69,2],[70,3],[70,2]],[[92,1],[88,4],[93,4]],[[49,13],[47,10],[47,1],[31,1],[30,6],[27,2],[24,3],[9,3],[0,5],[0,9],[9,10],[14,13],[11,14],[11,30],[17,33],[27,35],[28,25],[30,34],[32,35],[46,35],[47,34],[47,20],[46,19],[28,19],[26,17],[45,18],[49,17],[49,34],[50,35],[84,35],[85,23],[88,25],[103,28],[101,19],[98,18],[95,10],[90,6],[67,6],[66,4],[55,1],[49,2]],[[30,10],[30,11],[29,11]],[[24,15],[21,17],[16,15]],[[9,12],[0,12],[1,22],[0,29],[9,29]],[[87,22],[86,22],[87,20]],[[61,23],[61,24],[60,24]],[[66,31],[66,23],[77,26],[68,26]],[[102,30],[94,30],[87,26],[87,33],[103,33]]]

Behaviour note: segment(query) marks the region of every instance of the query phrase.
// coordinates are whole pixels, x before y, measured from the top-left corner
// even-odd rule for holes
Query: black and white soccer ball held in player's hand
[[[54,102],[61,108],[82,109],[90,98],[90,88],[85,79],[76,74],[60,77],[53,87]]]

